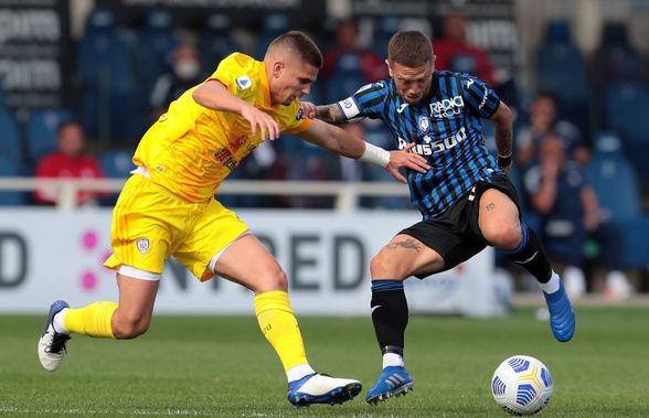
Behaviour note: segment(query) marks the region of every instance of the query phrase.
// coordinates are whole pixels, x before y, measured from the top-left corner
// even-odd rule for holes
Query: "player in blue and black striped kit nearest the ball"
[[[418,31],[396,33],[389,44],[390,78],[361,87],[328,106],[305,105],[307,116],[330,124],[382,119],[400,149],[427,159],[426,173],[406,170],[411,200],[423,221],[403,229],[372,259],[372,321],[383,353],[383,372],[366,400],[376,404],[413,388],[403,361],[408,307],[403,280],[450,269],[493,246],[504,250],[540,283],[556,340],[566,342],[575,317],[538,235],[520,219],[511,167],[510,109],[482,81],[436,72],[430,40]],[[496,127],[494,158],[480,119]],[[414,146],[413,146],[414,143]]]

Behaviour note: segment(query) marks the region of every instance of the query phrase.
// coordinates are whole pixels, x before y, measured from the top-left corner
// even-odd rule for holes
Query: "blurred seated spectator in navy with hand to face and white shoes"
[[[588,185],[581,167],[566,159],[564,141],[549,133],[540,144],[539,162],[523,175],[529,207],[542,218],[542,240],[550,257],[565,264],[565,289],[573,298],[586,291],[583,271],[583,248],[586,239],[597,240],[603,264],[608,270],[606,296],[625,299],[631,287],[621,271],[620,232],[610,223],[602,223],[597,196]]]

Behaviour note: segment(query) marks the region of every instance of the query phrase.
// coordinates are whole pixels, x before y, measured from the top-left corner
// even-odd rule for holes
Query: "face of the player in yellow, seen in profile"
[[[275,63],[274,82],[270,85],[274,104],[288,106],[295,99],[308,95],[318,77],[318,67],[301,60],[290,58]]]

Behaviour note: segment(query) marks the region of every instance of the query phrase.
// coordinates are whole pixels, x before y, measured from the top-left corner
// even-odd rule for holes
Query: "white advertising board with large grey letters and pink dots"
[[[304,211],[241,211],[288,275],[298,314],[366,315],[370,260],[396,233],[419,221],[414,212],[337,215]],[[61,213],[0,211],[0,312],[45,312],[65,299],[73,307],[117,300],[110,255],[109,210]],[[251,260],[255,262],[255,260]],[[406,280],[412,312],[500,313],[493,253],[487,249],[434,278]],[[175,261],[167,265],[156,311],[252,314],[249,290],[223,279],[201,283]]]

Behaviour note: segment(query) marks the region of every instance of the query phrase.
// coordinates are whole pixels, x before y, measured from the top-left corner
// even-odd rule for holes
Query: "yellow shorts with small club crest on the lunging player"
[[[162,274],[173,256],[201,281],[211,279],[210,260],[248,231],[234,212],[216,200],[189,203],[143,175],[124,185],[113,211],[113,256],[104,264]]]

